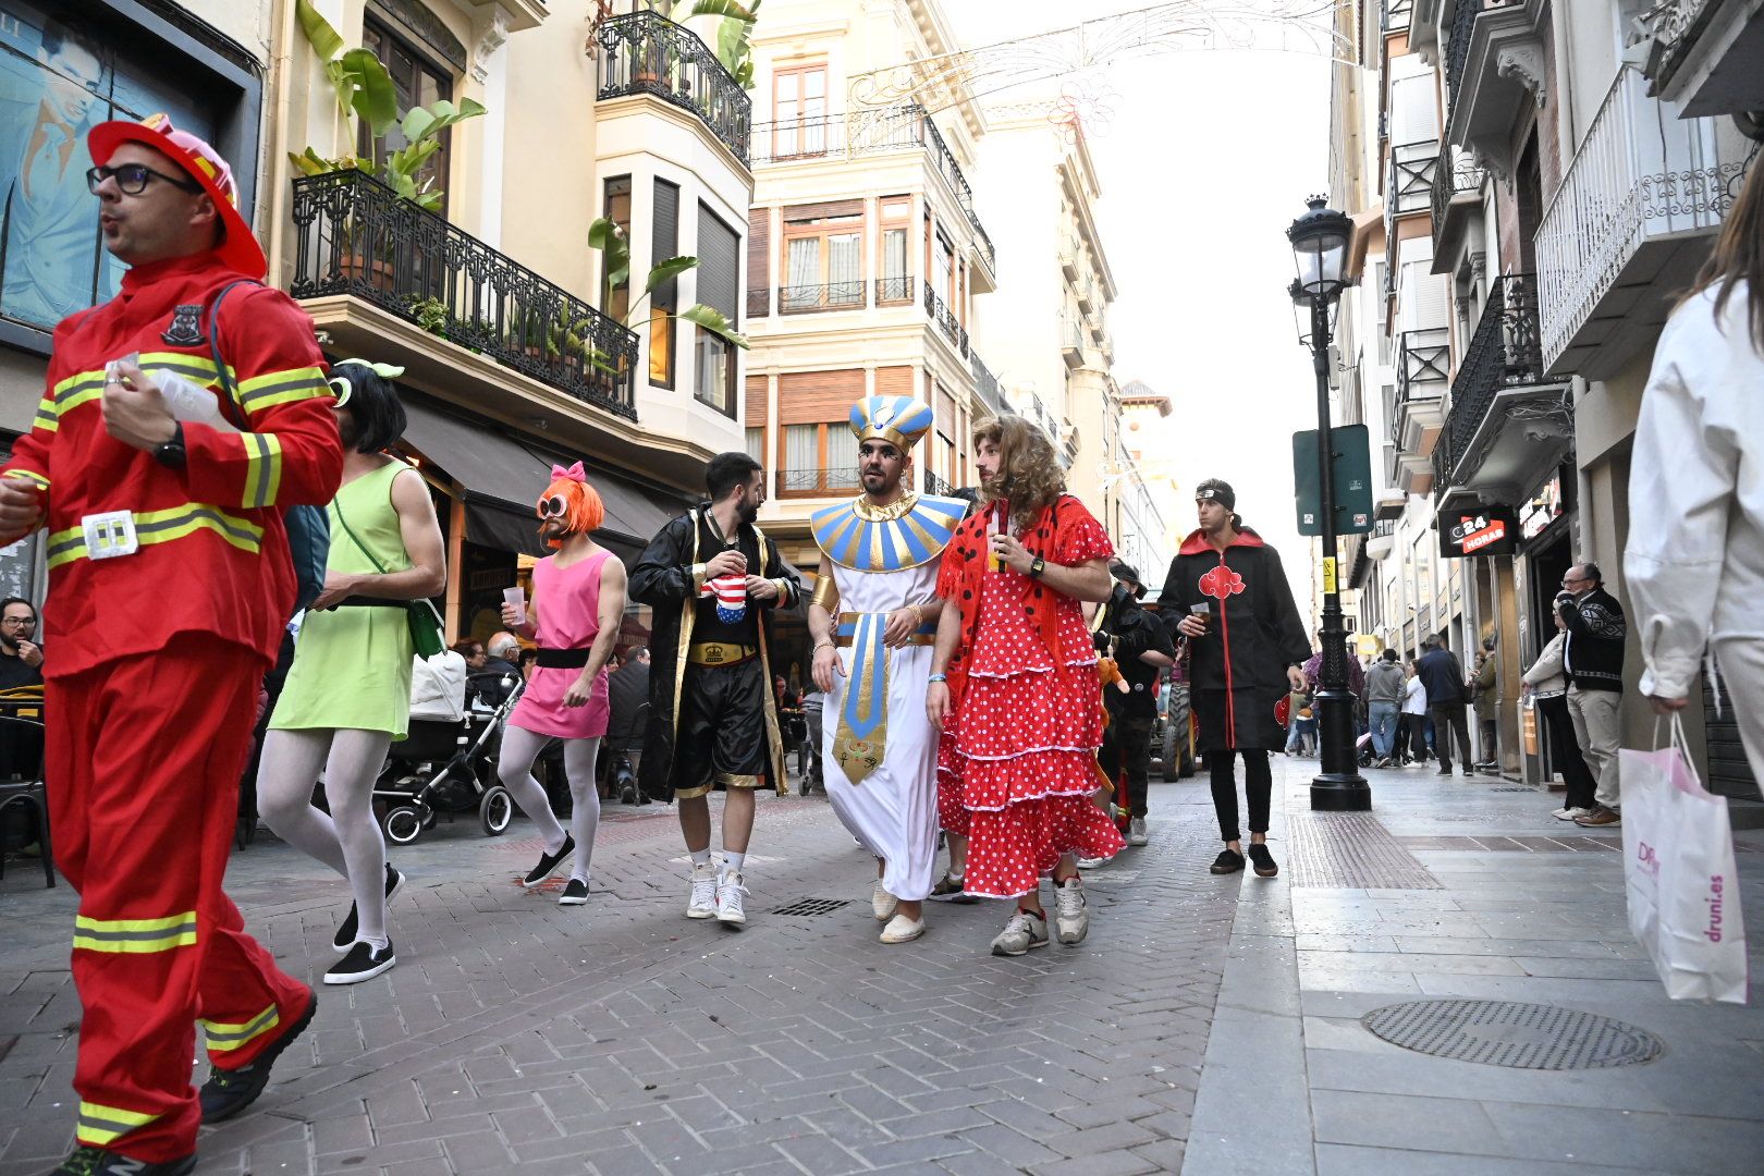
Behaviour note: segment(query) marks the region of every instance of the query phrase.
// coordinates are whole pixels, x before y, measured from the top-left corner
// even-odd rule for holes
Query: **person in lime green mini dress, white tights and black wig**
[[[386,749],[409,730],[416,651],[406,601],[446,587],[429,485],[383,451],[404,432],[404,406],[390,383],[399,374],[362,360],[332,368],[346,455],[328,508],[325,591],[300,624],[258,769],[265,823],[348,878],[355,894],[332,936],[344,957],[325,973],[326,984],[360,984],[397,964],[386,904],[404,875],[386,862],[374,779]],[[330,811],[312,804],[319,772]]]

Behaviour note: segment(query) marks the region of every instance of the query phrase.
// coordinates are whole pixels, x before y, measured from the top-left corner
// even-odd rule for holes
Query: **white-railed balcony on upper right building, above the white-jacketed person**
[[[1665,321],[1700,243],[1732,206],[1741,159],[1723,159],[1716,123],[1681,120],[1623,71],[1605,95],[1536,234],[1544,363],[1612,376]],[[1642,296],[1637,298],[1637,287]]]

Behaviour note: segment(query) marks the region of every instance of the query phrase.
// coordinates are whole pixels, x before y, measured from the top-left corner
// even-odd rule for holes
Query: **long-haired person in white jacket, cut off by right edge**
[[[1642,679],[1660,714],[1690,703],[1713,642],[1752,774],[1764,779],[1764,167],[1660,335],[1630,460],[1623,554]]]

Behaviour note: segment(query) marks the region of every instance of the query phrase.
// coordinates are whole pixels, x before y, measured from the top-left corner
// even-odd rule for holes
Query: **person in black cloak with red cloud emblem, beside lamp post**
[[[1268,753],[1281,748],[1274,707],[1288,689],[1305,688],[1300,665],[1311,656],[1311,642],[1279,552],[1244,525],[1231,487],[1217,478],[1194,487],[1194,513],[1200,527],[1170,561],[1159,608],[1164,624],[1187,638],[1189,702],[1200,719],[1224,841],[1210,869],[1244,869],[1235,770],[1242,756],[1249,862],[1256,875],[1272,878],[1279,866],[1268,850]]]

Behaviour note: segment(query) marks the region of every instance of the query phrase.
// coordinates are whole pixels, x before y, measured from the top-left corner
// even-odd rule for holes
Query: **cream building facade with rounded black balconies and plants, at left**
[[[328,358],[404,367],[400,453],[427,478],[448,540],[437,603],[450,636],[483,636],[499,628],[501,589],[545,554],[533,501],[552,462],[586,460],[607,501],[600,538],[630,561],[702,495],[704,464],[741,448],[743,353],[653,307],[704,303],[743,326],[751,100],[706,44],[714,21],[688,28],[630,0],[596,5],[587,25],[542,0],[314,9],[344,46],[386,65],[399,122],[385,134],[339,109],[291,0],[153,12],[123,0],[0,0],[7,85],[25,104],[32,85],[44,92],[41,122],[168,109],[235,162],[266,280],[312,316]],[[129,71],[157,81],[136,85]],[[404,115],[436,102],[483,113],[446,127],[415,173],[441,192],[425,210],[383,183],[381,167],[406,146]],[[97,249],[78,175],[83,129],[69,123],[67,134],[79,167],[58,192],[71,222],[90,227],[79,249],[102,280],[62,301],[90,305],[109,294],[116,266]],[[362,166],[295,167],[289,155]],[[589,247],[602,215],[624,233],[635,298],[630,282],[605,284],[605,256]],[[642,300],[647,266],[676,254],[699,266]],[[41,395],[44,324],[72,307],[35,305],[30,284],[42,287],[35,275],[49,270],[21,266],[14,280],[7,268],[0,423],[18,428],[12,406]],[[18,548],[7,555],[23,562]],[[642,640],[646,612],[633,608],[626,628],[630,644]]]

